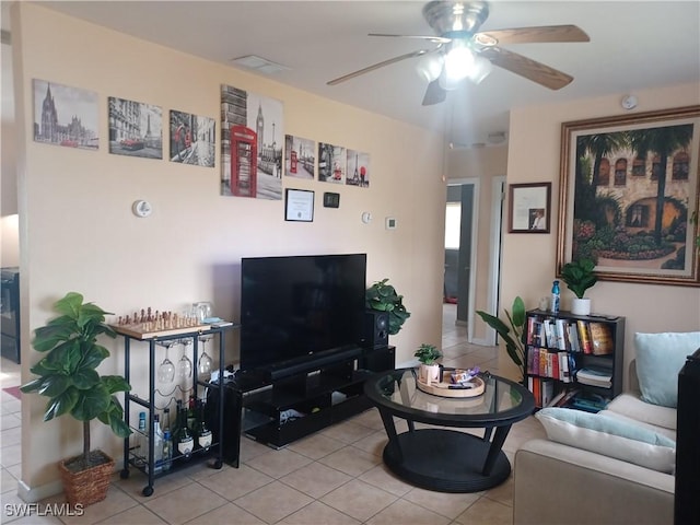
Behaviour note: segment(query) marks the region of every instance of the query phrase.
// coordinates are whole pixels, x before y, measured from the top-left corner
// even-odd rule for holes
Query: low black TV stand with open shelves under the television
[[[224,460],[238,466],[241,433],[281,448],[371,408],[364,381],[376,372],[394,370],[395,354],[389,346],[364,348],[357,358],[339,358],[278,381],[236,374],[225,383]]]

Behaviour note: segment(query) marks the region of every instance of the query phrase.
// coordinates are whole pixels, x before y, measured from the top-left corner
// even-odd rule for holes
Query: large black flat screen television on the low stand
[[[366,254],[244,257],[241,370],[270,378],[359,355]]]

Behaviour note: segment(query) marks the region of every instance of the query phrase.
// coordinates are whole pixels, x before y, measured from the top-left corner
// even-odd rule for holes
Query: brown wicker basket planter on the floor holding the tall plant
[[[58,465],[63,481],[63,492],[66,499],[71,506],[77,503],[83,506],[97,503],[107,497],[109,489],[109,480],[114,472],[115,462],[112,457],[102,451],[92,451],[90,453],[91,462],[101,463],[94,467],[89,467],[80,471],[72,471],[71,463],[75,462],[80,456],[65,459]],[[67,466],[68,465],[68,466]]]

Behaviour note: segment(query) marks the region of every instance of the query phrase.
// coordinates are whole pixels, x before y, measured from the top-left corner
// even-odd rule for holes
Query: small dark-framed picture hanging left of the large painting
[[[509,233],[549,233],[551,183],[511,184]]]

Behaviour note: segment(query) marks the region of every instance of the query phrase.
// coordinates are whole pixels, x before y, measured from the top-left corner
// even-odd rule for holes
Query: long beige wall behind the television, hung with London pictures
[[[51,303],[70,290],[117,314],[145,306],[178,311],[210,300],[217,315],[235,319],[241,257],[362,252],[368,254],[368,280],[388,277],[412,313],[392,338],[397,361],[411,360],[421,342],[440,343],[441,137],[37,5],[15,8],[24,340],[52,316]],[[100,151],[33,142],[32,79],[98,93]],[[219,195],[219,155],[215,168],[205,168],[108,153],[108,96],[160,105],[164,118],[177,109],[219,121],[222,83],[282,101],[287,133],[369,152],[371,187],[284,178],[284,187],[316,191],[313,223],[284,222],[282,201]],[[168,143],[167,130],[163,142]],[[323,208],[324,191],[340,192],[339,209]],[[141,198],[153,205],[148,219],[131,213],[131,203]],[[369,225],[361,222],[363,211],[374,217]],[[385,217],[397,219],[397,230],[385,230]],[[121,347],[108,343],[115,359],[103,372],[119,372]],[[28,345],[24,349],[27,381],[38,355]],[[143,363],[145,354],[140,359]],[[228,359],[236,359],[235,348]],[[145,396],[142,369],[132,383]],[[34,490],[40,487],[55,488],[55,463],[82,444],[75,422],[60,418],[44,423],[43,408],[39,396],[24,398],[25,497],[44,495],[44,489]],[[93,444],[120,458],[119,441],[102,425],[93,425]]]

